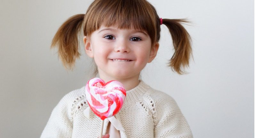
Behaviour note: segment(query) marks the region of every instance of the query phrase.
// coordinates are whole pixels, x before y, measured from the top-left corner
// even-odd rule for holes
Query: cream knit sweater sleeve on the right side
[[[187,120],[176,101],[158,91],[155,99],[155,138],[193,138]]]

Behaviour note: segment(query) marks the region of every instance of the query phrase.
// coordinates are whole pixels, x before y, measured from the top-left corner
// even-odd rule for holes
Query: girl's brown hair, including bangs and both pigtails
[[[169,66],[178,74],[185,74],[181,68],[189,66],[192,55],[191,38],[180,24],[189,23],[186,19],[163,19],[171,33],[175,49]],[[156,9],[146,0],[95,0],[85,14],[74,15],[66,20],[55,34],[51,48],[59,48],[59,57],[66,69],[73,69],[78,52],[77,34],[82,28],[84,36],[90,36],[101,25],[106,27],[116,25],[119,29],[134,29],[146,31],[152,44],[160,39],[160,18]],[[193,55],[192,55],[193,57]],[[97,70],[95,71],[95,73]]]

